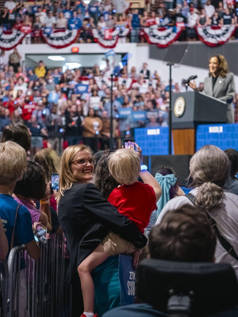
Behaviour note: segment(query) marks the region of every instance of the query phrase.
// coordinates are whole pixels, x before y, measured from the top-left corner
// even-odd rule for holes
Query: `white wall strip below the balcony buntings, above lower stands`
[[[109,49],[104,49],[96,43],[75,43],[64,49],[54,49],[48,44],[20,44],[17,46],[19,53],[22,55],[22,59],[25,59],[25,54],[69,54],[72,47],[79,47],[79,52],[84,54],[90,53],[106,53]],[[169,67],[166,66],[166,62],[149,59],[149,46],[145,43],[118,43],[114,49],[116,53],[131,53],[132,57],[128,61],[128,71],[132,66],[135,66],[139,72],[142,68],[143,62],[148,63],[148,69],[151,72],[155,70],[161,77],[161,81],[168,84],[169,81]],[[12,52],[12,51],[8,51]],[[75,55],[76,56],[76,55]],[[232,71],[232,65],[229,65],[229,69]],[[191,66],[176,64],[172,67],[172,79],[173,82],[181,83],[182,79],[186,79],[191,75],[197,75],[196,83],[203,81],[208,74],[208,69],[196,68]],[[238,76],[235,76],[235,85],[238,90]]]

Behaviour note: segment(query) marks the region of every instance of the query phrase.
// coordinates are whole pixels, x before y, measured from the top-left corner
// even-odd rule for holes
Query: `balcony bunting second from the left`
[[[42,33],[44,40],[55,49],[63,49],[75,42],[79,30],[54,30],[50,34]]]

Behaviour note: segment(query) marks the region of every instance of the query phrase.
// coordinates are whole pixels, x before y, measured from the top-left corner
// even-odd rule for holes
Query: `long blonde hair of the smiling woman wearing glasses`
[[[60,164],[60,180],[59,180],[59,194],[57,197],[57,202],[59,202],[61,196],[64,196],[64,191],[71,188],[74,183],[77,183],[78,180],[74,177],[71,169],[70,163],[74,160],[76,154],[83,150],[87,150],[91,155],[93,155],[90,147],[80,144],[80,145],[71,145],[67,147],[61,156]]]

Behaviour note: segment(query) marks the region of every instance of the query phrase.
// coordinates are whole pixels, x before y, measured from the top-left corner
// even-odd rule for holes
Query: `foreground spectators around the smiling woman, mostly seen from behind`
[[[159,310],[167,312],[166,302],[171,295],[188,298],[184,291],[187,288],[191,307],[201,305],[203,315],[208,315],[202,300],[207,296],[203,295],[203,287],[196,290],[199,293],[193,298],[191,291],[196,288],[195,280],[185,285],[193,272],[199,279],[199,274],[205,273],[209,278],[209,274],[216,272],[219,276],[219,270],[225,270],[226,275],[221,275],[221,278],[229,276],[238,291],[236,150],[223,152],[212,145],[198,150],[190,160],[188,188],[192,190],[185,195],[178,186],[173,167],[161,166],[155,177],[141,169],[142,149],[137,144],[136,150],[100,151],[94,155],[88,146],[72,145],[63,151],[61,157],[52,149],[42,149],[35,154],[33,161],[27,161],[30,142],[29,132],[22,123],[12,123],[3,130],[0,142],[0,220],[4,226],[0,226],[0,259],[8,257],[12,247],[24,244],[29,256],[38,260],[41,254],[34,231],[39,223],[47,228],[48,233],[61,235],[64,232],[70,261],[66,280],[76,285],[79,294],[72,304],[72,316],[97,316],[97,309],[102,305],[93,305],[95,280],[91,278],[91,271],[118,254],[133,254],[135,268],[139,262],[138,297],[143,304],[116,308],[116,301],[113,301],[114,306],[110,308],[114,307],[114,311],[106,312],[106,302],[103,305],[105,317],[112,313],[113,316],[128,316],[130,311],[132,316],[143,316],[145,311],[148,316],[160,316]],[[59,173],[59,191],[51,191],[52,173]],[[142,261],[149,254],[151,259]],[[222,266],[222,263],[227,265]],[[109,272],[113,265],[107,262],[101,269]],[[174,271],[175,266],[180,271]],[[23,300],[17,307],[20,317],[27,314],[24,267],[22,259],[19,291]],[[146,283],[151,280],[146,276],[153,272],[151,285],[157,283],[157,287],[162,288],[156,277],[156,272],[162,267],[166,267],[166,274],[170,272],[168,268],[171,269],[173,282],[174,274],[181,274],[182,270],[183,279],[188,275],[187,282],[183,287],[178,283],[173,292],[157,297],[153,302],[145,291],[148,288]],[[145,283],[142,288],[140,279]],[[115,294],[115,283],[115,279],[109,278],[103,281],[103,289],[109,291],[113,287]],[[171,286],[166,286],[165,280],[163,283],[169,291]],[[216,300],[217,296],[224,296],[223,287],[227,287],[228,292],[230,286],[231,282],[216,289]],[[120,294],[120,287],[118,289]],[[95,292],[99,291],[103,291],[102,285],[95,289]],[[219,313],[232,308],[230,313],[219,316],[235,316],[238,299],[231,302],[227,298],[219,308],[211,304],[209,312]]]

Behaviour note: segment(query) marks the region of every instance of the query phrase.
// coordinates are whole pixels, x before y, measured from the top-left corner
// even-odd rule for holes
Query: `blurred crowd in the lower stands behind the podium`
[[[0,56],[0,131],[11,122],[24,123],[32,136],[33,156],[43,147],[43,138],[58,153],[63,138],[68,145],[83,140],[93,152],[109,148],[113,63],[106,60],[103,70],[95,64],[63,73],[62,68],[48,69],[40,61],[35,69],[23,71],[20,58],[17,49]],[[88,88],[82,93],[78,85]],[[178,83],[172,89],[185,91]],[[130,72],[125,66],[114,81],[113,137],[133,137],[137,127],[167,126],[168,103],[169,86],[161,83],[157,72],[152,73],[146,63]],[[132,114],[121,117],[120,109],[127,108]],[[133,114],[142,110],[146,117],[134,120]]]

